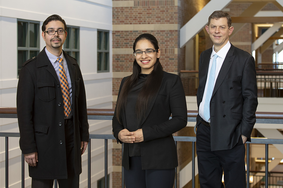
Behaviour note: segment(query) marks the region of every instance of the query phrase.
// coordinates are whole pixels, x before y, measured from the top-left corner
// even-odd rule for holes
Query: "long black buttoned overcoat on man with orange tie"
[[[89,141],[85,87],[76,59],[64,51],[63,54],[72,83],[74,168],[79,175],[82,172],[81,141]],[[23,64],[17,89],[20,148],[23,154],[38,152],[37,166],[29,166],[32,178],[67,178],[63,111],[60,82],[44,48]]]

